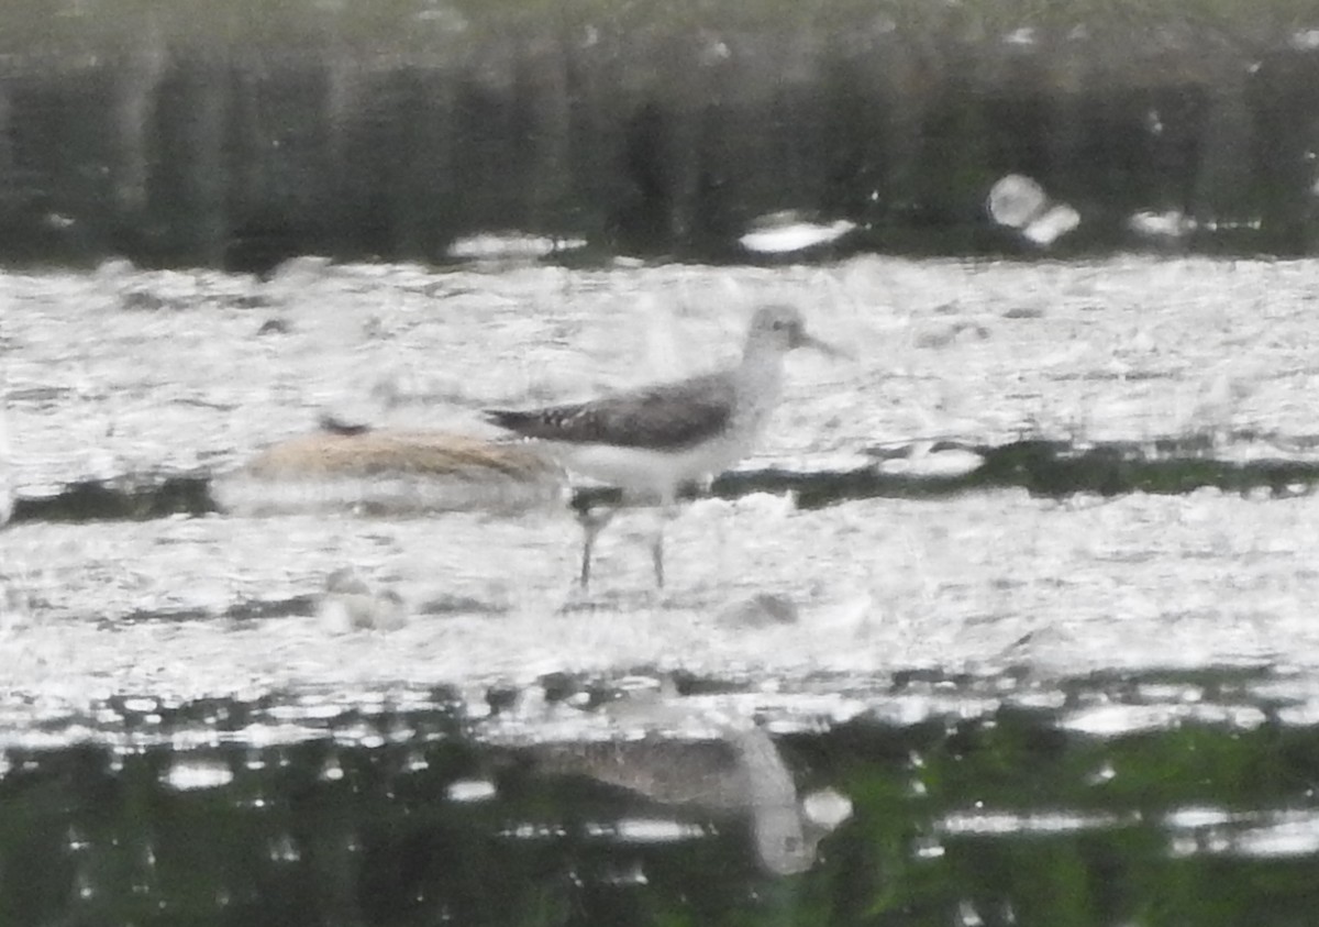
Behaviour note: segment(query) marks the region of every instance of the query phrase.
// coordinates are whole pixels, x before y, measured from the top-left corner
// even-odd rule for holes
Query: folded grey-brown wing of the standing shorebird
[[[485,416],[525,437],[570,444],[682,450],[718,434],[733,412],[733,387],[721,374],[632,390],[588,403]]]

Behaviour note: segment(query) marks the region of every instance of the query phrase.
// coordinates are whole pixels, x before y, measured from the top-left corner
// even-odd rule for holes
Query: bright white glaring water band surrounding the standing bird
[[[383,427],[489,437],[485,405],[727,360],[769,298],[801,305],[856,360],[794,358],[748,467],[845,460],[956,477],[984,465],[966,448],[1022,434],[1083,445],[1206,429],[1227,442],[1212,448],[1223,457],[1315,454],[1306,263],[313,269],[268,284],[131,267],[0,277],[18,309],[5,380],[5,475],[18,498],[103,471],[232,471],[364,397]],[[144,310],[141,293],[171,310]],[[272,317],[282,326],[261,333]],[[187,363],[161,363],[162,345]],[[1233,444],[1245,428],[1257,437]],[[935,449],[950,438],[960,449]],[[830,717],[834,705],[773,720],[790,730],[1060,710],[1047,680],[1095,671],[1287,666],[1278,717],[1302,724],[1319,713],[1303,681],[1319,666],[1304,605],[1319,601],[1316,504],[1212,490],[1063,500],[998,490],[811,510],[791,495],[707,499],[669,526],[669,589],[650,588],[645,516],[625,511],[601,535],[588,596],[574,586],[579,528],[555,506],[508,518],[28,520],[0,533],[15,693],[3,709],[16,729],[63,718],[66,736],[96,737],[123,722],[102,712],[125,697],[141,722],[129,739],[148,743],[175,736],[153,728],[181,705],[273,699],[224,737],[328,732],[361,746],[396,737],[340,724],[372,699],[426,703],[434,687],[525,688],[557,672],[678,671],[777,687],[783,705],[818,679],[863,693],[843,716]],[[335,597],[327,584],[343,570],[369,602],[352,598],[357,586]],[[873,699],[911,671],[1046,681]],[[562,706],[534,709],[526,724],[565,717],[575,724]],[[1072,705],[1063,724],[1120,737],[1183,722],[1249,730],[1261,717],[1249,693],[1241,704],[1145,693]]]

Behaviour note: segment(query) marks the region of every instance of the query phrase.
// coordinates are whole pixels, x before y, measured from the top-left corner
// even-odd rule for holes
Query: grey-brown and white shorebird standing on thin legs
[[[650,536],[656,585],[663,588],[663,522],[678,490],[718,475],[745,457],[778,403],[783,357],[814,347],[843,357],[806,331],[793,306],[758,309],[747,331],[741,362],[685,380],[644,386],[584,403],[537,409],[487,409],[500,428],[537,438],[570,471],[623,490],[625,499],[658,503]],[[583,588],[591,581],[591,551],[608,515],[582,516]]]

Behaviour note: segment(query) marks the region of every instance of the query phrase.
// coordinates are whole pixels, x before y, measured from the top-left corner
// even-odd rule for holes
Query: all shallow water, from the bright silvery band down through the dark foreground
[[[1315,273],[865,259],[501,273],[303,261],[270,283],[127,267],[7,275],[9,478],[21,514],[70,482],[224,471],[327,409],[492,434],[483,405],[728,357],[768,297],[799,302],[859,359],[793,359],[744,470],[919,467],[935,441],[1024,437],[1154,448],[1191,436],[1211,462],[1312,462]],[[260,334],[276,318],[286,330]],[[459,920],[522,922],[538,905],[545,920],[576,905],[582,920],[612,923],[615,903],[633,919],[708,922],[737,910],[700,907],[720,893],[768,906],[754,909],[766,918],[827,909],[831,923],[882,910],[921,923],[1177,923],[1188,909],[1151,901],[1167,879],[1240,887],[1264,868],[1289,887],[1256,919],[1293,923],[1293,903],[1314,901],[1295,866],[1319,852],[1304,772],[1319,718],[1316,507],[1304,486],[998,489],[811,508],[703,498],[669,526],[665,593],[650,589],[649,522],[625,511],[601,535],[588,596],[574,586],[579,528],[557,504],[414,519],[20,518],[0,532],[0,800],[30,827],[0,835],[0,854],[62,862],[11,914],[70,914],[91,886],[83,899],[113,918],[152,899],[239,923],[261,879],[294,898],[342,866],[355,873],[342,889],[353,923],[445,906]],[[360,594],[327,597],[344,568]],[[611,708],[663,680],[677,689]],[[795,901],[761,881],[799,869],[765,862],[762,806],[656,791],[653,770],[695,762],[692,750],[649,751],[658,766],[642,763],[621,798],[582,753],[601,739],[727,746],[748,730],[769,733],[780,757],[751,782],[782,792],[787,776],[802,802],[828,788],[853,809],[807,842],[814,868],[794,876],[806,879]],[[284,763],[297,772],[272,771]],[[129,866],[140,891],[88,874],[96,853],[71,846],[96,840],[30,836],[92,827],[80,809],[106,790],[119,796],[113,839],[153,860]],[[129,794],[157,811],[135,816]],[[765,807],[781,806],[798,807]],[[144,874],[166,865],[164,833],[169,853],[191,852],[165,807],[200,815],[198,833],[249,821],[231,837],[243,872]],[[406,839],[368,823],[414,812]],[[340,849],[309,849],[327,845],[317,841]],[[434,868],[446,841],[480,857],[467,877]],[[1059,882],[1028,886],[1021,865]],[[1165,881],[1142,881],[1142,866]],[[386,869],[397,878],[381,881]],[[495,910],[476,887],[491,872],[542,894],[474,914]],[[1093,889],[1105,872],[1120,898]],[[939,886],[929,903],[926,885]],[[402,901],[422,897],[442,903]],[[1239,923],[1224,906],[1190,920]]]

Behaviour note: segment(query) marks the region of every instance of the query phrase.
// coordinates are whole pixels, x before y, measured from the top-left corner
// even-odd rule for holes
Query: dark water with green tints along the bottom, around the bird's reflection
[[[1260,681],[1220,671],[1092,677],[1064,685],[1067,708],[1057,710],[991,699],[973,714],[963,703],[960,718],[861,717],[777,738],[802,794],[831,787],[853,803],[818,864],[777,879],[756,865],[736,816],[565,771],[562,747],[489,746],[476,736],[487,722],[443,708],[443,693],[431,709],[344,710],[311,739],[265,747],[226,739],[249,737],[270,704],[148,717],[125,703],[121,729],[103,732],[111,742],[207,730],[222,739],[191,750],[11,749],[0,920],[1303,924],[1319,883],[1312,857],[1291,856],[1285,833],[1315,841],[1312,729],[1187,720],[1103,739],[1066,724],[1095,704],[1175,714],[1192,692],[1203,708],[1231,706]],[[1142,695],[1146,684],[1175,695]],[[562,696],[578,684],[550,688]],[[907,675],[882,695],[955,705],[989,691]],[[459,800],[452,787],[463,782],[495,791]],[[621,836],[628,820],[700,829],[634,840]]]

